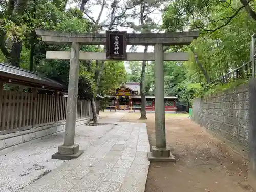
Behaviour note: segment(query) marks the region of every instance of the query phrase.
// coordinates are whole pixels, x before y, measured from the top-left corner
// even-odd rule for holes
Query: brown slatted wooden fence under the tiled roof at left
[[[0,135],[65,121],[67,97],[3,90],[0,92]],[[96,101],[97,114],[99,101]],[[92,117],[88,100],[78,100],[77,119]]]

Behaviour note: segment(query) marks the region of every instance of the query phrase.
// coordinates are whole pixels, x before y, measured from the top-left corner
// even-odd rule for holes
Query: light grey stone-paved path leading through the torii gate
[[[83,142],[76,140],[84,149],[79,158],[64,162],[19,192],[143,192],[150,164],[145,123],[119,123],[102,134],[104,126],[94,126],[95,135]],[[89,138],[91,145],[84,145]]]

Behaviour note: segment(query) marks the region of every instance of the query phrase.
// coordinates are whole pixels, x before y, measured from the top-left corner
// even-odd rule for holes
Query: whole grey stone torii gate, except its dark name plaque
[[[67,99],[67,116],[65,138],[58,152],[52,155],[56,159],[73,159],[79,157],[83,151],[75,144],[75,122],[78,94],[79,60],[110,60],[101,52],[82,52],[80,45],[105,45],[108,42],[106,34],[66,33],[56,31],[36,30],[36,34],[49,44],[71,44],[71,51],[47,51],[47,59],[70,60],[69,88]],[[164,111],[164,72],[163,61],[187,61],[186,52],[164,53],[163,46],[189,45],[199,36],[198,31],[180,33],[150,33],[150,34],[125,34],[127,45],[152,45],[155,53],[127,53],[127,61],[155,61],[155,130],[156,146],[148,152],[150,161],[175,161],[166,147],[165,138],[165,111]],[[126,46],[125,46],[126,48]],[[126,50],[125,50],[126,51]]]

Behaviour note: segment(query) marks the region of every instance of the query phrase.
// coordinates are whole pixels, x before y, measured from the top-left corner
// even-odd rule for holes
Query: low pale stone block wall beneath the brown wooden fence
[[[89,122],[89,118],[77,119],[76,126]],[[12,152],[19,147],[30,145],[43,139],[49,139],[53,134],[65,130],[65,121],[36,127],[34,129],[0,135],[0,154]]]

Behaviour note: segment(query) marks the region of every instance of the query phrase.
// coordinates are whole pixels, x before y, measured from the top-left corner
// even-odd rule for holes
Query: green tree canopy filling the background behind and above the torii
[[[36,36],[36,28],[87,33],[119,27],[140,33],[200,30],[200,37],[190,46],[165,48],[190,53],[187,62],[164,63],[165,94],[188,102],[202,94],[203,87],[211,81],[250,60],[256,21],[254,0],[82,0],[72,1],[76,4],[72,8],[67,6],[68,2],[0,0],[0,62],[68,84],[69,61],[49,61],[45,55],[47,50],[69,51],[70,45],[47,45]],[[96,16],[92,12],[94,5],[101,7]],[[155,18],[155,11],[162,13],[162,24]],[[81,50],[104,51],[101,46],[91,45],[81,46]],[[80,62],[80,96],[109,94],[126,81],[143,83],[143,94],[153,95],[154,62]]]

